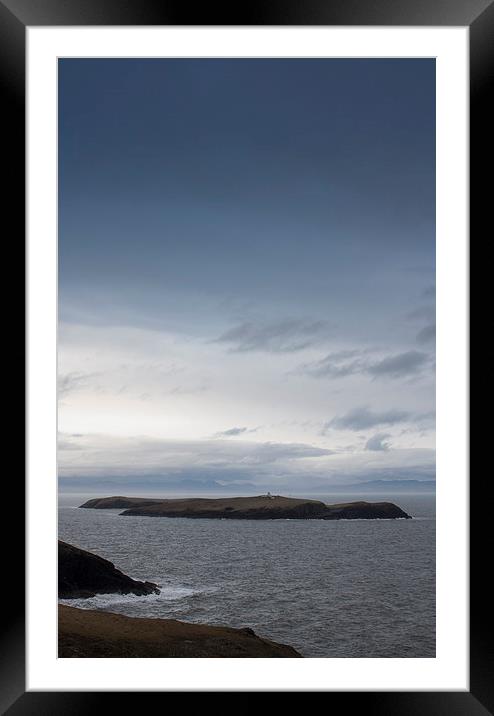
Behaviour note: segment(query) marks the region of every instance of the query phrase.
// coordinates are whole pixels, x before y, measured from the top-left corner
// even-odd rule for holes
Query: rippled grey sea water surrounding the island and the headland
[[[412,520],[121,517],[61,495],[59,537],[105,557],[160,595],[64,603],[136,617],[251,627],[304,657],[435,656],[433,495],[390,500]]]

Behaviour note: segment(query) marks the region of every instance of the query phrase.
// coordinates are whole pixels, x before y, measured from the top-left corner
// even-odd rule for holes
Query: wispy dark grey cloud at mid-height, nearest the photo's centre
[[[265,351],[268,353],[294,353],[321,340],[327,324],[324,321],[286,319],[275,323],[240,323],[216,338],[235,353]]]

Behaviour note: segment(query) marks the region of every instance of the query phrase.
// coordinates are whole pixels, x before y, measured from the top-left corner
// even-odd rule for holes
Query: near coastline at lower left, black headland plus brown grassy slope
[[[131,579],[107,559],[58,541],[59,599],[159,593],[157,584]],[[263,639],[249,628],[143,619],[63,604],[58,607],[58,656],[301,658],[291,646]]]

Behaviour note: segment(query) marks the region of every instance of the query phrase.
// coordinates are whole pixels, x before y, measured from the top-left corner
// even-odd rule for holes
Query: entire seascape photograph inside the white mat
[[[436,99],[58,57],[59,659],[435,659]]]

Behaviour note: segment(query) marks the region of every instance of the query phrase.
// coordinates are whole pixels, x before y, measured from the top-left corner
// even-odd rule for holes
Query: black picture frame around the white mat
[[[159,0],[0,0],[0,89],[4,124],[3,191],[4,226],[10,226],[9,245],[24,260],[25,223],[25,51],[28,26],[76,25],[375,25],[375,26],[468,26],[470,35],[470,233],[482,246],[484,227],[489,226],[491,182],[484,179],[485,167],[492,168],[493,149],[489,133],[494,115],[489,108],[494,77],[494,0],[352,0],[352,2],[284,0],[250,2],[246,5],[192,8],[189,4]],[[489,201],[490,199],[490,201]],[[9,221],[10,219],[10,221]],[[5,244],[4,244],[5,246]],[[22,279],[21,279],[22,281]],[[471,304],[477,308],[488,296],[483,282],[473,292]],[[484,294],[482,295],[482,291]],[[473,302],[472,302],[473,299]],[[475,303],[476,301],[476,303]],[[23,334],[17,330],[17,351],[13,363],[21,364],[18,353]],[[24,377],[24,376],[23,376]],[[24,384],[24,380],[22,383]],[[18,396],[16,396],[16,401]],[[481,433],[482,431],[480,431]],[[487,441],[487,429],[484,429]],[[476,437],[479,432],[476,432]],[[482,435],[477,438],[478,444]],[[9,503],[25,504],[25,486],[20,475],[9,478]],[[492,648],[492,608],[485,578],[488,569],[490,525],[485,505],[485,484],[470,485],[470,691],[469,692],[329,692],[324,694],[329,709],[355,708],[357,712],[380,716],[448,714],[461,716],[494,713],[494,659]],[[480,518],[479,518],[480,515]],[[475,520],[473,517],[475,516]],[[0,709],[11,716],[20,714],[85,714],[101,707],[115,706],[122,696],[127,707],[137,705],[134,693],[116,692],[26,692],[25,691],[25,611],[24,535],[19,524],[15,538],[4,535],[9,553],[9,589],[4,588],[2,658],[0,660]],[[478,563],[475,555],[480,555]],[[485,555],[485,563],[482,559]],[[486,570],[487,565],[487,570]],[[4,576],[5,576],[4,572]],[[5,583],[7,584],[7,582]],[[150,695],[150,694],[147,694]],[[170,705],[172,694],[155,694]],[[137,698],[142,699],[139,692]],[[190,693],[202,707],[213,705],[213,693]],[[235,708],[247,710],[267,694],[246,694]],[[183,697],[181,697],[183,698]],[[201,699],[199,702],[198,699]],[[302,698],[306,698],[302,695]],[[295,699],[295,702],[293,701]],[[290,694],[296,705],[299,696]],[[271,700],[271,699],[270,699]],[[188,700],[187,700],[188,701]],[[182,702],[183,703],[183,702]],[[260,703],[260,702],[259,702]],[[190,702],[188,705],[192,705]]]

